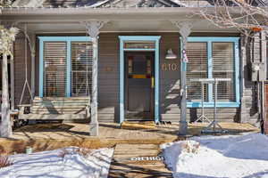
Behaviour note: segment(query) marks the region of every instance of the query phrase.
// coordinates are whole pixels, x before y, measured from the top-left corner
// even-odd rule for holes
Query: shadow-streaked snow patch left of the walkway
[[[71,147],[63,150],[43,151],[11,156],[13,166],[0,168],[1,178],[99,178],[107,177],[113,149],[92,150],[87,156]]]

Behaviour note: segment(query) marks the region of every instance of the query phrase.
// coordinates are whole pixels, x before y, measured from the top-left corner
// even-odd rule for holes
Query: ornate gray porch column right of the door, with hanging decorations
[[[180,68],[180,135],[185,135],[188,132],[188,123],[186,120],[187,115],[187,100],[186,100],[186,93],[187,93],[187,62],[188,58],[186,55],[186,45],[188,42],[188,36],[191,33],[191,28],[193,23],[189,21],[172,21],[172,23],[180,29],[180,36],[181,36],[181,68]]]

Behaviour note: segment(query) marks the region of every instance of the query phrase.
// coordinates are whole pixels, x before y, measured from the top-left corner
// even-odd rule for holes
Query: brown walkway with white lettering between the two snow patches
[[[117,144],[108,177],[172,177],[160,151],[155,144]]]

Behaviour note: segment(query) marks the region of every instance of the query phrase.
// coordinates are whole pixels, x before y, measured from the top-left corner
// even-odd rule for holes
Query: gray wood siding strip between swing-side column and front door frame
[[[119,38],[117,34],[99,36],[98,120],[119,121]]]

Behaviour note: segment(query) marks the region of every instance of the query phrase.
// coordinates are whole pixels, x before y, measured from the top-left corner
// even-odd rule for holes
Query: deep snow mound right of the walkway
[[[268,178],[264,134],[192,137],[161,147],[175,178]]]

